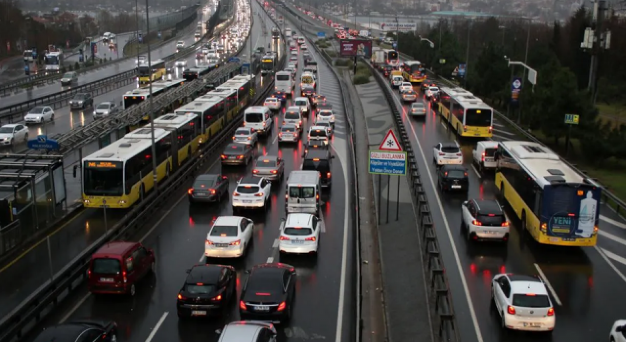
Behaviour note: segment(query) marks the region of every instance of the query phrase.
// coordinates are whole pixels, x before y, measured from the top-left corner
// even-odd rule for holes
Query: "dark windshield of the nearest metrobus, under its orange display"
[[[87,196],[122,196],[124,169],[121,162],[106,163],[106,168],[91,168],[85,162],[85,194]]]

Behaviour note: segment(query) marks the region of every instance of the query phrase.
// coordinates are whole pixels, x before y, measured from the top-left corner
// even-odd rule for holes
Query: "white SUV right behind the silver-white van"
[[[312,214],[288,214],[281,224],[279,253],[317,254],[322,221]]]

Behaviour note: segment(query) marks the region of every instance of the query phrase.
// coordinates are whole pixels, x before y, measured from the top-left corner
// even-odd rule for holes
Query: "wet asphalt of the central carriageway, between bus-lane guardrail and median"
[[[255,11],[259,6],[254,3]],[[269,22],[268,18],[264,20]],[[270,43],[269,36],[261,36],[258,29],[259,17],[255,16],[255,29],[253,29],[252,41],[254,46]],[[280,41],[272,42],[272,49]],[[320,62],[318,90],[329,99],[335,109],[342,106],[341,99],[337,98],[339,84],[332,79],[332,72],[322,63],[321,56],[315,56]],[[302,61],[300,61],[302,63]],[[296,89],[296,92],[298,89]],[[332,96],[335,94],[335,96]],[[324,207],[321,211],[324,226],[321,233],[321,245],[316,259],[283,258],[278,256],[277,238],[279,235],[280,218],[284,217],[283,189],[287,177],[281,184],[276,184],[272,189],[270,210],[260,213],[246,213],[245,215],[255,221],[254,244],[250,252],[240,260],[218,260],[213,262],[232,264],[237,269],[237,289],[240,291],[243,271],[254,264],[271,261],[281,261],[293,264],[298,273],[297,294],[292,321],[287,326],[278,326],[279,341],[297,341],[303,339],[336,339],[337,333],[340,339],[347,340],[352,325],[351,311],[353,303],[346,298],[352,298],[354,293],[347,284],[354,283],[351,278],[352,265],[352,223],[348,221],[347,210],[350,206],[348,198],[349,189],[347,170],[352,167],[347,153],[345,118],[342,111],[337,113],[336,133],[332,139],[332,152],[337,156],[332,163],[333,183],[329,193],[322,196]],[[282,111],[274,117],[274,125],[282,123]],[[305,129],[311,123],[311,118],[304,120]],[[272,129],[270,136],[261,139],[257,146],[257,155],[278,155],[285,161],[285,173],[292,169],[299,169],[302,155],[302,143],[294,146],[277,145],[277,129]],[[347,164],[350,163],[350,164]],[[235,182],[241,176],[250,174],[252,164],[247,168],[221,168],[219,159],[207,163],[207,172],[222,172],[230,180],[230,190],[235,188]],[[180,197],[179,197],[180,196]],[[354,204],[352,204],[354,205]],[[195,263],[205,262],[203,257],[204,241],[210,223],[220,215],[230,215],[232,209],[229,201],[217,205],[198,206],[190,208],[186,199],[186,189],[180,189],[178,196],[173,196],[169,209],[163,216],[153,218],[153,222],[146,223],[145,231],[141,231],[134,238],[141,241],[148,248],[153,248],[156,253],[156,276],[147,279],[138,286],[135,298],[124,297],[95,297],[86,292],[85,287],[76,290],[64,304],[64,308],[56,311],[51,319],[46,319],[41,328],[56,324],[67,319],[81,317],[110,318],[118,323],[118,341],[217,341],[218,332],[223,324],[228,321],[239,319],[238,309],[235,304],[221,319],[209,321],[178,321],[176,315],[176,296],[182,281],[185,278],[185,269]],[[86,229],[89,222],[89,229]],[[83,244],[81,239],[90,239],[96,235],[96,226],[100,232],[101,215],[92,212],[91,218],[76,220],[73,226],[63,229],[63,235],[73,236],[71,241],[64,241],[63,245],[73,246]],[[59,232],[60,233],[60,232]],[[100,233],[101,234],[101,233]],[[99,234],[98,234],[99,235]],[[56,238],[55,238],[56,239]],[[63,241],[63,240],[61,240]],[[69,242],[69,243],[68,243]],[[55,243],[58,246],[58,243]],[[76,249],[78,246],[76,246]],[[45,250],[44,250],[45,251]],[[26,259],[26,258],[24,258]],[[33,272],[33,268],[45,259],[44,254],[29,256],[30,263],[23,263],[19,270],[4,276],[22,277],[24,274],[39,273],[41,279],[45,274]],[[22,261],[19,261],[22,262]],[[22,271],[21,273],[19,271]],[[4,291],[2,291],[4,293]],[[3,301],[4,298],[0,299]],[[344,305],[345,303],[345,305]],[[314,318],[314,319],[312,319]],[[341,318],[341,319],[338,319]],[[39,327],[38,329],[39,330]],[[34,336],[27,338],[30,341]]]

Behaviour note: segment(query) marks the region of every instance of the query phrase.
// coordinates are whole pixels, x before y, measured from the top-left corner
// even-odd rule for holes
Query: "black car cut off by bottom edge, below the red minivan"
[[[117,340],[117,324],[114,321],[79,319],[44,329],[34,342],[116,342]]]

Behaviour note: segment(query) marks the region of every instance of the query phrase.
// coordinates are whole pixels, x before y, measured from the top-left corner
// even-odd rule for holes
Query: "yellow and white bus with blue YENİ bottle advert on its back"
[[[501,141],[494,154],[500,196],[541,244],[595,246],[600,219],[598,184],[538,143]]]

